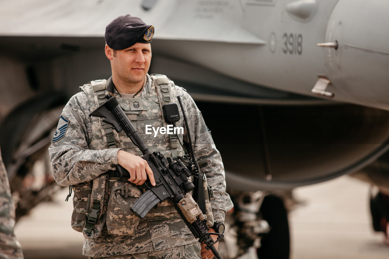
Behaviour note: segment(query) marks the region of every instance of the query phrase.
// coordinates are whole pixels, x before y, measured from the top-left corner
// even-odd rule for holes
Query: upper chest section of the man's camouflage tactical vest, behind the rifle
[[[184,150],[180,145],[177,145],[177,139],[171,134],[157,133],[154,137],[154,131],[151,134],[146,134],[145,125],[151,125],[155,129],[157,127],[167,127],[167,123],[163,119],[162,106],[165,103],[178,103],[177,93],[174,83],[164,75],[151,75],[152,84],[150,91],[140,98],[124,99],[116,96],[119,105],[123,108],[124,113],[128,116],[139,136],[145,142],[147,147],[154,152],[160,151],[166,157],[182,156]],[[106,80],[95,80],[90,84],[81,87],[82,91],[89,99],[91,111],[95,110],[100,104],[106,101],[105,96],[108,94],[105,89]],[[182,118],[182,112],[180,111]],[[176,127],[182,127],[183,120],[177,122]],[[106,148],[120,147],[124,151],[130,152],[138,156],[142,153],[128,138],[123,131],[117,133],[113,130],[110,124],[103,122],[102,118],[93,117],[91,125],[88,128],[89,149],[100,150]],[[150,131],[149,131],[150,132]],[[182,134],[178,134],[182,140]],[[173,144],[171,143],[173,140]],[[172,152],[177,154],[173,154]]]

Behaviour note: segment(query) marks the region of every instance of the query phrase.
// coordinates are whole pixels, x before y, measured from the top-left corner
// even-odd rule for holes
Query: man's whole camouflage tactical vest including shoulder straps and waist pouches
[[[165,157],[182,156],[185,152],[181,145],[177,145],[175,136],[171,134],[160,134],[158,132],[154,137],[155,134],[152,130],[151,134],[146,134],[145,125],[151,125],[155,129],[158,127],[166,128],[167,123],[163,118],[162,106],[165,105],[165,103],[178,103],[175,85],[171,80],[164,75],[151,75],[151,79],[149,92],[142,95],[140,98],[124,99],[115,95],[116,99],[123,108],[124,113],[133,123],[135,129],[137,129],[142,140],[152,152],[162,152]],[[106,101],[106,96],[109,94],[106,90],[106,84],[107,81],[103,79],[91,81],[89,84],[80,87],[80,90],[84,91],[89,100],[90,112]],[[181,110],[180,116],[183,118]],[[183,119],[177,122],[176,127],[183,127]],[[182,134],[177,135],[182,142]],[[130,138],[128,138],[123,131],[117,133],[110,124],[103,122],[102,118],[92,117],[91,121],[89,121],[88,137],[90,140],[89,149],[102,150],[107,148],[122,148],[126,152],[142,156],[138,147],[131,142]],[[108,201],[108,197],[115,195],[112,193],[112,190],[114,190],[114,192],[117,190],[126,198],[128,194],[133,194],[132,198],[137,198],[140,195],[140,192],[137,193],[135,185],[118,180],[119,179],[117,178],[108,178],[107,175],[101,175],[93,180],[93,187],[90,184],[74,186],[75,196],[73,201],[75,210],[72,215],[72,227],[79,232],[83,232],[85,238],[95,239],[98,237],[103,229],[105,221],[107,221],[108,232],[111,235],[133,234],[134,229],[125,228],[120,230],[115,223],[110,223],[110,219],[116,217],[115,215],[112,215],[109,208],[111,201]],[[93,189],[95,190],[93,191]],[[77,205],[80,205],[80,203],[83,208],[77,208]],[[112,206],[114,207],[115,205]],[[83,213],[79,213],[82,209],[85,214],[89,214],[82,216]],[[129,208],[124,214],[125,213],[132,214]],[[172,202],[166,200],[159,203],[157,207],[154,207],[142,221],[173,219],[179,217]],[[209,205],[209,197],[207,202],[207,219],[209,225],[212,226],[213,215]],[[131,221],[130,218],[125,220],[127,221],[123,222],[125,225],[131,225],[128,224],[128,221]],[[139,222],[139,218],[133,220],[137,221],[135,222],[136,224],[132,224],[133,226],[136,226]],[[109,231],[110,226],[112,227],[112,231]]]

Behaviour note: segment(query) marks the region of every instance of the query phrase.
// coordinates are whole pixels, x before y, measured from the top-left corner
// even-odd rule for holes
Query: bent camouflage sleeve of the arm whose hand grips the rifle
[[[61,116],[68,121],[65,135],[49,147],[54,179],[61,186],[93,180],[115,170],[117,165],[117,152],[121,149],[89,149],[89,113],[89,102],[83,92],[75,94],[63,108]]]

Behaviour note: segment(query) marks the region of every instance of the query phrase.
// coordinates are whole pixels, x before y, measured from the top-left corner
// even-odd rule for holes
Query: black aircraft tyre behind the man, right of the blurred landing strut
[[[283,200],[275,195],[266,196],[259,213],[269,223],[270,232],[261,239],[258,259],[289,259],[289,224]]]

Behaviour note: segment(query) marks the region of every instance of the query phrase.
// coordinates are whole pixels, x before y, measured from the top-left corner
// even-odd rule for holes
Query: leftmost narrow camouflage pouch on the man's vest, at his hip
[[[70,188],[74,192],[71,225],[75,231],[82,232],[86,223],[86,214],[88,214],[87,208],[91,198],[92,185],[71,185]]]

